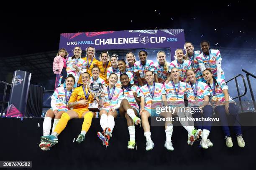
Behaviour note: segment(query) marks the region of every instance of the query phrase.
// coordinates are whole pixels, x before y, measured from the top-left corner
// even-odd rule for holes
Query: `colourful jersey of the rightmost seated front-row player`
[[[225,105],[225,96],[224,96],[223,90],[224,89],[228,90],[228,86],[227,86],[225,80],[223,80],[223,79],[216,79],[216,81],[218,82],[218,86],[215,85],[215,97],[217,97],[217,100],[212,99],[212,97],[213,97],[213,89],[212,89],[213,85],[208,84],[209,89],[210,89],[210,95],[211,95],[210,96],[210,101],[214,106]],[[233,101],[230,96],[228,96],[228,97],[229,97],[229,101]]]

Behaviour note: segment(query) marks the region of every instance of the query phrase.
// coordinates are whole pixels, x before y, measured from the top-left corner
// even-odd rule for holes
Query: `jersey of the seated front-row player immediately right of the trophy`
[[[109,90],[110,91],[110,95],[112,94],[112,90],[113,87]],[[102,109],[105,110],[110,110],[110,108],[115,107],[116,105],[118,105],[118,100],[123,100],[123,90],[115,87],[115,91],[113,92],[113,97],[110,100],[110,98],[108,97],[108,87],[105,87],[103,89],[103,93],[104,93],[104,104],[101,107]]]

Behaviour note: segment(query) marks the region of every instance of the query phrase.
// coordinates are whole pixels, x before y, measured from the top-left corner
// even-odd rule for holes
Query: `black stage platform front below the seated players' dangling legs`
[[[174,126],[173,152],[164,148],[164,127],[154,126],[151,127],[151,138],[155,147],[147,152],[142,127],[136,127],[137,150],[127,149],[129,135],[124,118],[115,119],[108,148],[97,138],[97,131],[101,131],[99,119],[92,120],[83,143],[73,142],[83,122],[83,119],[77,119],[69,121],[67,128],[59,135],[58,144],[49,151],[42,151],[38,144],[43,133],[43,121],[43,118],[0,118],[0,161],[32,161],[32,168],[36,170],[235,170],[255,169],[256,166],[256,126],[242,127],[245,148],[238,147],[234,134],[234,146],[227,148],[221,128],[213,126],[210,133],[213,147],[208,150],[199,148],[198,141],[193,146],[187,145],[187,131],[181,126]]]

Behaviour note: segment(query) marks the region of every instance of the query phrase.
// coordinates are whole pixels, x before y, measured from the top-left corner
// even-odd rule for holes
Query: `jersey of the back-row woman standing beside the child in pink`
[[[67,75],[72,74],[75,77],[75,85],[74,87],[77,87],[77,82],[80,76],[80,73],[76,71],[75,68],[73,68],[73,64],[76,64],[77,67],[80,70],[84,70],[86,71],[86,67],[87,67],[87,62],[85,60],[83,60],[82,58],[79,59],[71,59],[72,57],[68,57],[67,59]]]

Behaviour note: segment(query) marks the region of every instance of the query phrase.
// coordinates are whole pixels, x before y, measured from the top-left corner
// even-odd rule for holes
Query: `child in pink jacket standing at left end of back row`
[[[67,77],[67,57],[68,52],[65,48],[59,49],[57,56],[54,58],[54,62],[52,65],[52,70],[54,74],[56,74],[55,87],[54,90],[59,87],[59,85],[63,84]]]

